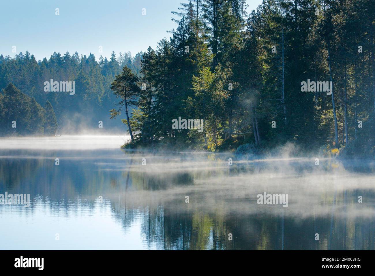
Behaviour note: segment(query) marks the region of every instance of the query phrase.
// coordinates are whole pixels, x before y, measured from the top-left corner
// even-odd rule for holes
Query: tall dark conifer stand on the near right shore
[[[172,12],[172,37],[143,54],[141,78],[126,68],[116,76],[121,101],[112,116],[136,107],[125,121],[132,145],[217,150],[295,142],[374,156],[373,1],[265,0],[249,15],[246,6],[181,4]],[[331,81],[332,93],[324,89]],[[204,131],[173,129],[178,117],[203,119]]]

